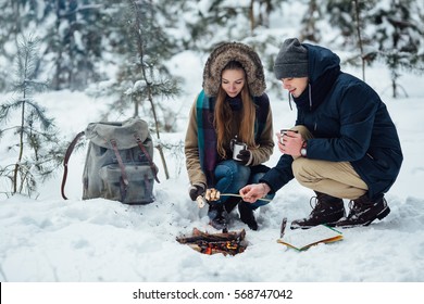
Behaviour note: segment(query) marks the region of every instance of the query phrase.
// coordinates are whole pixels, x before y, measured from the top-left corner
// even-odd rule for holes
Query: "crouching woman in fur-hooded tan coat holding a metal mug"
[[[192,201],[207,188],[237,194],[249,182],[258,182],[269,169],[261,165],[274,148],[265,88],[262,63],[250,47],[226,42],[210,54],[203,71],[203,90],[191,107],[185,141]],[[232,151],[235,140],[247,147],[234,155],[237,160]],[[226,213],[238,204],[240,219],[257,230],[253,210],[267,202],[248,204],[238,197],[222,195],[209,202],[210,224],[216,229],[226,228]]]

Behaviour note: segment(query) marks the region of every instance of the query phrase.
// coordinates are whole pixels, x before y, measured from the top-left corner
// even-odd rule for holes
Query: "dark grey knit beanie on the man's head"
[[[308,50],[297,38],[283,42],[274,63],[277,79],[308,77]]]

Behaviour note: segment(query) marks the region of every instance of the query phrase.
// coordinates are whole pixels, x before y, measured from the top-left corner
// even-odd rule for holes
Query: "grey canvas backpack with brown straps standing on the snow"
[[[125,204],[154,201],[153,185],[158,167],[153,163],[153,142],[148,125],[139,118],[122,123],[91,123],[71,142],[64,157],[62,197],[67,162],[82,136],[89,140],[83,173],[83,200],[103,198]]]

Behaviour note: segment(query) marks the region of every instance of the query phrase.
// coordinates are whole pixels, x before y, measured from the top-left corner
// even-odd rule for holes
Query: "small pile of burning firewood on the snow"
[[[247,248],[245,237],[245,229],[241,231],[208,233],[194,228],[191,236],[177,237],[176,240],[203,254],[222,253],[224,255],[236,255],[244,252]]]

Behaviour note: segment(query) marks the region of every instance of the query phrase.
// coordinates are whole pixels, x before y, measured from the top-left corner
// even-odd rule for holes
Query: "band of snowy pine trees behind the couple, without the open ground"
[[[160,140],[175,131],[173,100],[183,79],[169,62],[186,50],[205,59],[220,41],[244,41],[261,55],[267,90],[278,91],[272,68],[284,36],[348,52],[345,61],[366,68],[384,63],[394,98],[407,97],[401,75],[424,71],[424,4],[421,0],[2,0],[0,27],[0,141],[15,151],[0,163],[1,194],[30,195],[54,172],[68,144],[55,128],[42,91],[112,97],[109,110],[146,118]],[[301,20],[299,18],[301,16]],[[282,29],[299,25],[290,33]],[[199,66],[201,69],[201,66]],[[282,97],[283,98],[283,97]],[[104,110],[98,119],[108,119]],[[10,122],[16,122],[14,127]],[[10,141],[9,134],[18,135]]]

